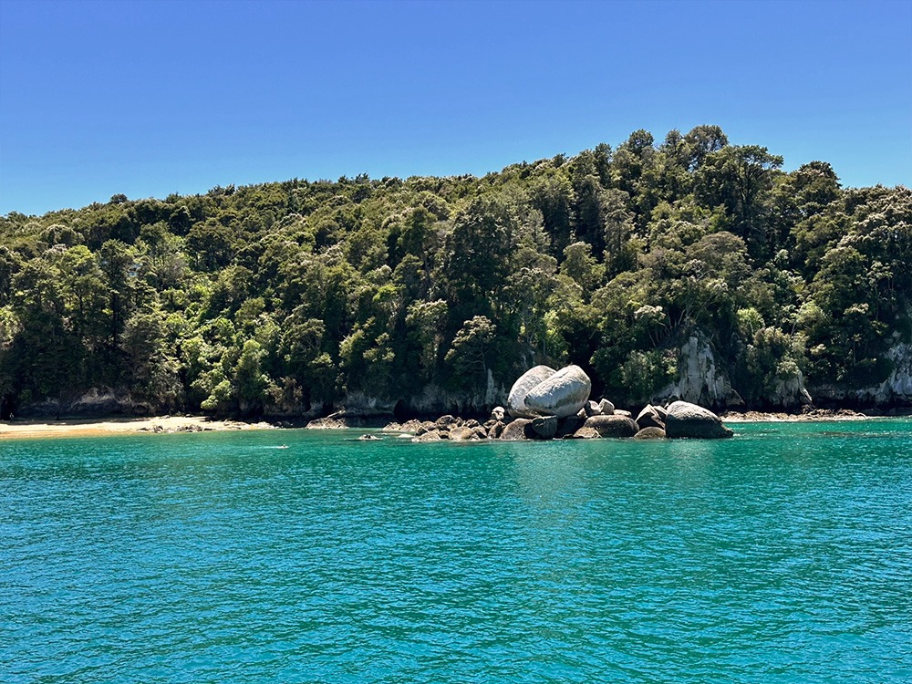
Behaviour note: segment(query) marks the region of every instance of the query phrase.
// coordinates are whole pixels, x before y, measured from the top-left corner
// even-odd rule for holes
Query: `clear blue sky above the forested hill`
[[[912,181],[912,2],[0,0],[0,214],[482,174],[701,123]]]

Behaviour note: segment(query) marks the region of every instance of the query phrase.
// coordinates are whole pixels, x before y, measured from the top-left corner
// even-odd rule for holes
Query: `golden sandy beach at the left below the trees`
[[[106,434],[203,432],[213,430],[275,430],[267,422],[211,420],[205,416],[161,416],[157,418],[100,418],[61,420],[4,420],[0,440],[35,437],[97,437]]]

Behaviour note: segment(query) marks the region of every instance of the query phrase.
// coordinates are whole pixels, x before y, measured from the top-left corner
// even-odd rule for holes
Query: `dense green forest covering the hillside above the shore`
[[[673,385],[691,337],[749,408],[796,379],[874,387],[912,337],[912,192],[781,167],[700,126],[483,178],[11,212],[3,410],[92,388],[152,412],[408,407],[429,389],[480,409],[538,362],[635,404]]]

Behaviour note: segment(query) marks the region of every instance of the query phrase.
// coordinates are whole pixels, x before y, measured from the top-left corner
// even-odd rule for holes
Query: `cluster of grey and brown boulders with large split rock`
[[[648,405],[634,418],[607,399],[589,399],[591,391],[592,382],[578,366],[536,366],[513,384],[506,408],[493,409],[483,423],[447,415],[409,427],[416,433],[415,441],[718,439],[733,434],[715,413],[687,401],[668,407]]]

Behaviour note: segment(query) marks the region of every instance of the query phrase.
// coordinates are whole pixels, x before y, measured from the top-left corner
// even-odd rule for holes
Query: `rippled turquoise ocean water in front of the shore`
[[[2,441],[0,681],[912,681],[912,421],[733,427]]]

